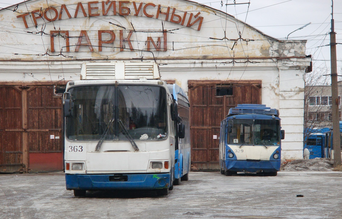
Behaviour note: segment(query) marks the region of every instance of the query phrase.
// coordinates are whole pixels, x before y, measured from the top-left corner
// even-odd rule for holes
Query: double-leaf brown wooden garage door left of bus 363
[[[63,170],[62,98],[52,85],[0,85],[0,172]]]

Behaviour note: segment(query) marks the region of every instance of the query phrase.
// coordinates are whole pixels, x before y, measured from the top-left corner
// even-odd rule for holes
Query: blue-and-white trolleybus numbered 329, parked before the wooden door
[[[258,173],[276,176],[280,170],[279,111],[261,104],[238,104],[221,121],[221,174]]]

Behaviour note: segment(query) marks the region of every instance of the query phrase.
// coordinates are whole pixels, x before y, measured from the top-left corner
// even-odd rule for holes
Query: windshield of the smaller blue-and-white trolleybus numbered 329
[[[236,145],[280,145],[278,119],[229,119],[232,127],[227,143]]]

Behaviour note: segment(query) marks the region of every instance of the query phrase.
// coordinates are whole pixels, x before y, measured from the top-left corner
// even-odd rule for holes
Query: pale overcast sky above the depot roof
[[[19,2],[23,0],[0,0],[0,7]],[[264,34],[281,40],[311,22],[291,33],[288,39],[307,40],[306,54],[312,54],[314,66],[330,70],[330,47],[326,45],[330,42],[331,0],[236,0],[236,3],[250,2],[237,5],[226,5],[233,4],[234,0],[196,2],[227,12]],[[334,0],[334,22],[336,41],[342,43],[342,0]],[[342,44],[337,44],[337,59],[338,74],[342,75]]]

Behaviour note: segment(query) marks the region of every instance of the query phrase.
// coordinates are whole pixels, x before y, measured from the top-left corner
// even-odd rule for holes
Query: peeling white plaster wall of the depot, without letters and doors
[[[282,158],[303,157],[303,75],[311,61],[305,57],[306,41],[279,41],[231,15],[191,1],[143,2],[160,4],[163,12],[168,6],[170,13],[173,8],[179,14],[187,12],[184,15],[187,19],[190,13],[195,16],[199,12],[198,16],[203,17],[201,28],[199,23],[186,27],[186,22],[185,25],[170,22],[170,17],[165,21],[166,15],[163,14],[158,19],[149,18],[142,11],[138,16],[110,15],[113,12],[102,16],[101,1],[93,4],[94,7],[99,7],[93,13],[98,12],[100,16],[84,17],[79,12],[74,18],[78,2],[88,12],[90,0],[30,0],[26,1],[26,5],[19,4],[17,11],[22,13],[27,13],[27,8],[29,11],[42,8],[44,13],[48,7],[54,7],[59,12],[61,4],[66,4],[72,18],[68,18],[65,12],[61,20],[45,21],[46,24],[38,18],[37,28],[28,16],[26,28],[23,19],[16,17],[20,13],[0,10],[0,27],[8,30],[0,35],[0,82],[51,81],[52,84],[60,80],[79,80],[81,64],[84,62],[132,59],[156,59],[160,64],[161,78],[175,80],[185,91],[188,90],[188,80],[262,80],[262,104],[279,109],[282,128],[286,131],[282,143]],[[124,6],[129,7],[131,13],[135,10],[132,1]],[[10,9],[13,10],[14,7]],[[149,7],[147,12],[156,16],[156,8]],[[241,40],[237,27],[244,28]],[[163,28],[172,31],[163,35]],[[55,52],[51,51],[50,31],[58,29],[69,31],[69,52],[66,52],[66,39],[57,36],[53,37]],[[44,33],[38,33],[41,30]],[[75,51],[81,30],[87,31],[94,52],[90,51],[89,46],[80,46],[79,52]],[[105,44],[107,47],[103,47],[101,52],[98,49],[98,30],[111,30],[116,36],[112,43]],[[130,30],[133,31],[130,40],[134,51],[130,50],[127,40],[123,42],[120,38],[120,30],[122,38],[128,37]],[[155,42],[160,38],[157,45],[160,47],[159,51],[152,43],[150,52],[147,51],[147,37],[152,37]],[[103,38],[109,39],[109,35]],[[238,40],[234,44],[234,40],[227,39]],[[119,48],[120,41],[125,47],[123,51]],[[83,40],[82,43],[86,41]]]

